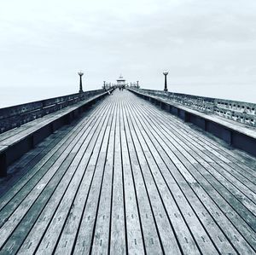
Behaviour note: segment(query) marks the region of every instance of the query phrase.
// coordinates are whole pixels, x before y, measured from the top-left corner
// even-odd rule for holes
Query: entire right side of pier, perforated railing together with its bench
[[[183,119],[184,122],[192,123],[200,127],[201,130],[217,136],[230,146],[256,156],[255,104],[157,90],[134,88],[129,88],[129,90],[144,100],[160,106],[177,118]],[[230,114],[227,113],[229,111]],[[220,116],[229,119],[232,115],[238,115],[242,119],[240,117],[240,120],[226,121],[224,118],[217,118],[215,114],[222,114]],[[250,121],[247,121],[248,119]],[[243,124],[239,124],[235,120]]]

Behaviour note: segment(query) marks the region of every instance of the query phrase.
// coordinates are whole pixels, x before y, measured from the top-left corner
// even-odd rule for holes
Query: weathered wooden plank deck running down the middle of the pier
[[[0,254],[256,254],[255,162],[115,90],[9,167]]]

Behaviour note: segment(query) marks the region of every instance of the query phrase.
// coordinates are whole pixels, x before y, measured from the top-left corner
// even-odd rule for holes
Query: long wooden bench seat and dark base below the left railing
[[[65,107],[42,118],[21,125],[0,135],[0,177],[7,176],[8,165],[34,148],[38,142],[49,136],[61,126],[70,124],[86,108],[107,96],[108,91],[92,96],[84,101]]]

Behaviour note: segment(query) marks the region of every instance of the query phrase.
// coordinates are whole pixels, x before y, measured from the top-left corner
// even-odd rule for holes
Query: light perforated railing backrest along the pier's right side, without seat
[[[172,93],[161,90],[143,90],[132,88],[151,96],[181,104],[203,113],[213,113],[226,119],[256,126],[256,104],[243,101],[224,100],[205,96],[192,96],[187,94]]]

